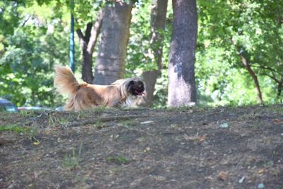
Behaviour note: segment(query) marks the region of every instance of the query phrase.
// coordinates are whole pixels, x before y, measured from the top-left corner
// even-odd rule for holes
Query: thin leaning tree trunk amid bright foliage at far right
[[[253,69],[251,69],[250,64],[248,64],[248,60],[245,57],[243,57],[243,55],[240,52],[238,52],[236,42],[233,39],[231,40],[231,42],[234,45],[234,47],[236,48],[237,53],[238,53],[239,57],[241,58],[241,62],[243,63],[244,67],[246,67],[246,69],[248,70],[248,73],[253,78],[253,83],[255,84],[255,91],[257,92],[257,96],[258,96],[258,103],[263,103],[262,94],[261,94],[261,90],[260,90],[260,83],[258,82],[258,76],[256,76],[255,71],[253,71]]]

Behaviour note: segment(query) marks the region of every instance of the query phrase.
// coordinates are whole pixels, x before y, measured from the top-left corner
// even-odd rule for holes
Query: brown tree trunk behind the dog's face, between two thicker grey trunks
[[[154,86],[156,79],[162,67],[162,52],[163,52],[163,30],[165,27],[166,13],[167,13],[168,0],[152,0],[151,7],[151,51],[154,54],[152,60],[157,64],[157,70],[144,71],[142,78],[146,84],[146,97],[143,102],[146,105],[150,105],[154,98]]]

